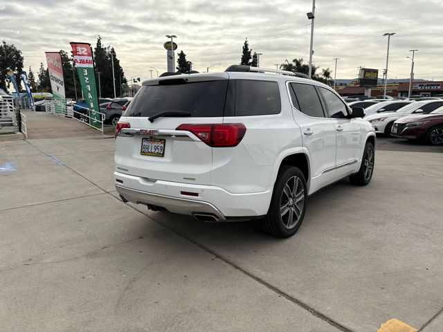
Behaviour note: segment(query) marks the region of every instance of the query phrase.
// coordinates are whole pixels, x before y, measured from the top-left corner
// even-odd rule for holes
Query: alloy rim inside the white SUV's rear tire
[[[305,205],[305,189],[298,176],[292,176],[284,185],[280,201],[280,216],[285,228],[296,227]]]

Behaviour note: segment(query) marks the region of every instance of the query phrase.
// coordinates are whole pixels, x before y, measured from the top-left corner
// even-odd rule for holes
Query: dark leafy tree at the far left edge
[[[21,55],[21,50],[15,47],[14,44],[6,44],[3,40],[0,44],[0,89],[8,91],[6,86],[6,75],[8,75],[8,71],[13,71],[15,73],[18,89],[20,90],[20,75],[23,71],[23,60],[24,57]]]

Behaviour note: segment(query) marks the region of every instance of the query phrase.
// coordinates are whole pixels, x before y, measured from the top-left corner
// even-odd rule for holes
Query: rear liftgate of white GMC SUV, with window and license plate
[[[148,183],[210,185],[212,147],[203,140],[213,131],[198,124],[222,124],[227,90],[226,73],[144,82],[116,129],[116,171]],[[177,131],[181,124],[197,124],[199,132]]]

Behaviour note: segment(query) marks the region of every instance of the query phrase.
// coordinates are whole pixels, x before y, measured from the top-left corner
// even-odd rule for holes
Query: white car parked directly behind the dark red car
[[[365,120],[368,120],[370,124],[372,124],[376,133],[383,133],[390,136],[392,124],[394,124],[395,120],[413,114],[428,114],[442,106],[443,100],[423,100],[421,102],[412,102],[395,112],[383,112],[366,116]]]

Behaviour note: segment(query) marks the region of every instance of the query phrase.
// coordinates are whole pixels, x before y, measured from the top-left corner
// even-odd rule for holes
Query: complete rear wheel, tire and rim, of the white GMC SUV
[[[262,220],[264,230],[274,237],[291,237],[305,217],[306,200],[305,176],[298,167],[283,165],[275,181],[269,211]]]

